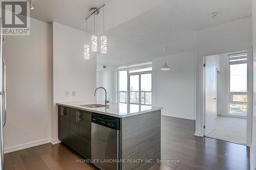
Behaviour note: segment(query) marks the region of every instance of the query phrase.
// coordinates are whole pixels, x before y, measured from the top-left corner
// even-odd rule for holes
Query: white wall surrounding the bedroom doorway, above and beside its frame
[[[248,55],[250,55],[252,45],[251,28],[251,17],[248,17],[224,23],[223,25],[207,28],[196,33],[197,121],[195,135],[203,136],[203,56],[242,50],[247,50]],[[248,60],[249,71],[251,71],[251,55],[248,56]],[[251,76],[252,75],[250,74],[249,77]],[[248,93],[252,93],[251,88],[248,89]],[[252,100],[248,101],[248,104],[251,101]],[[248,117],[248,119],[249,121],[251,120],[250,117]]]

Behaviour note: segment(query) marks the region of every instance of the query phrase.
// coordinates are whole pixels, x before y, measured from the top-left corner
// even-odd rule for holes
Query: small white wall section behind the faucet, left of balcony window
[[[116,71],[115,67],[97,63],[97,87],[102,86],[106,89],[111,102],[116,102]],[[105,92],[102,89],[97,91],[97,101],[105,100]]]

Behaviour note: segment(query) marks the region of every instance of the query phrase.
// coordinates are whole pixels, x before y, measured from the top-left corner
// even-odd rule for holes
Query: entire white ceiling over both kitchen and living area
[[[90,8],[104,2],[108,53],[98,54],[97,61],[109,65],[194,50],[196,31],[251,16],[250,0],[33,0],[31,16],[86,31]],[[219,14],[211,18],[211,12]],[[96,27],[102,34],[102,12]],[[93,17],[88,28],[93,33]]]

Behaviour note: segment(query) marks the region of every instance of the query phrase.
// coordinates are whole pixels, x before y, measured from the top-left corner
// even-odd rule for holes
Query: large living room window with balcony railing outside
[[[118,102],[152,105],[152,62],[119,69]]]

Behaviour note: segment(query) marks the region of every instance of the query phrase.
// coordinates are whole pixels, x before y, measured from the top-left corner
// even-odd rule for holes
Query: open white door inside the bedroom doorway
[[[205,57],[205,135],[216,129],[216,56]]]

